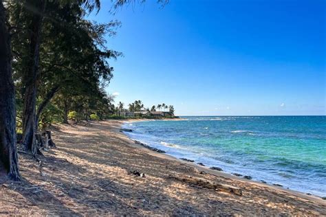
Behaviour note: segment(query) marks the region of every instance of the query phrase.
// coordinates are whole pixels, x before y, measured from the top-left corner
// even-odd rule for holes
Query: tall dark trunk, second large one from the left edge
[[[26,7],[32,8],[34,14],[30,23],[30,60],[26,67],[23,82],[25,84],[23,106],[23,146],[25,150],[36,154],[35,132],[36,122],[36,79],[39,72],[39,48],[41,38],[41,26],[45,10],[45,0],[29,0]]]

